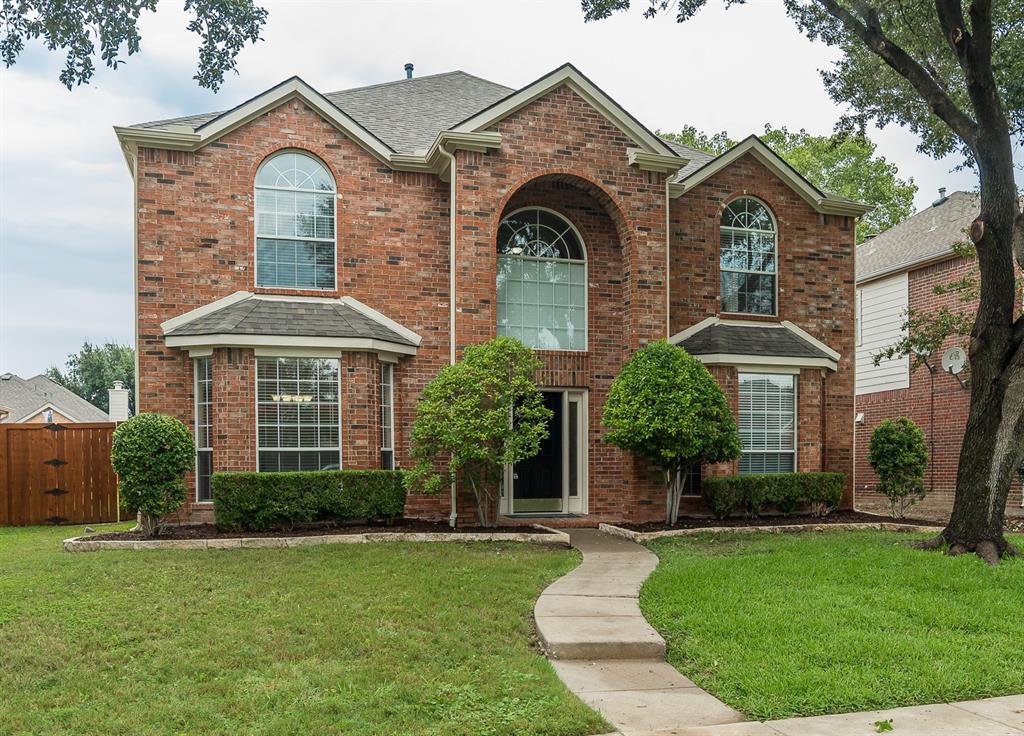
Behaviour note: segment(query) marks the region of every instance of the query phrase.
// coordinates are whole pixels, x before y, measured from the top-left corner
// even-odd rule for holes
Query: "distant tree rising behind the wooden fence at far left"
[[[68,356],[63,371],[53,366],[46,377],[104,412],[111,408],[108,389],[121,381],[128,389],[128,409],[135,414],[135,350],[128,345],[86,342],[81,350]]]

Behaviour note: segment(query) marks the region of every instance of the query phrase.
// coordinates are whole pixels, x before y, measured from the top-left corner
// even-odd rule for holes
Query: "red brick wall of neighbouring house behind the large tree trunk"
[[[935,287],[961,279],[974,269],[973,261],[952,258],[910,271],[907,279],[910,309],[921,312],[934,312],[944,306],[956,311],[975,309],[976,304],[973,303],[966,307],[962,305],[956,294],[935,293]],[[864,423],[856,428],[856,484],[859,509],[888,513],[889,502],[874,491],[878,478],[867,462],[871,432],[884,419],[909,417],[924,431],[932,454],[925,475],[928,495],[909,513],[915,517],[942,521],[949,518],[956,490],[956,468],[959,465],[964,429],[967,426],[971,402],[970,389],[962,388],[954,377],[942,373],[942,352],[953,346],[966,348],[967,339],[951,337],[946,340],[942,348],[929,360],[937,369],[934,376],[925,365],[921,365],[911,370],[909,388],[857,396],[857,412],[864,414]],[[1007,508],[1020,507],[1020,484],[1015,482]]]

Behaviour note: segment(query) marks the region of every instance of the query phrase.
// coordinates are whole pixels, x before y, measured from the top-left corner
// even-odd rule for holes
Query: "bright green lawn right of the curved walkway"
[[[911,538],[659,539],[640,607],[672,664],[759,720],[1024,692],[1024,562]]]

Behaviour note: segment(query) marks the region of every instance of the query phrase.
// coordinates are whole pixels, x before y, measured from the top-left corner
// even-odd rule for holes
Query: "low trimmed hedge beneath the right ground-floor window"
[[[811,514],[824,516],[843,499],[842,473],[777,473],[705,478],[701,494],[712,513],[724,519],[735,513],[758,516],[771,505],[783,514],[810,506]]]

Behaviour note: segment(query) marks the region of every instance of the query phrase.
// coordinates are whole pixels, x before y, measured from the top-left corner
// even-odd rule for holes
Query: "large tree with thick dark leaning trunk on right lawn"
[[[742,4],[742,0],[724,0]],[[630,0],[582,0],[588,20]],[[688,20],[708,0],[647,0]],[[977,552],[994,564],[1017,551],[1004,537],[1013,474],[1024,457],[1024,317],[1014,305],[1024,267],[1024,215],[1014,144],[1024,135],[1024,12],[1020,0],[783,0],[812,40],[842,51],[822,72],[849,107],[840,128],[909,128],[935,157],[959,151],[978,172],[981,212],[971,226],[980,298],[971,331],[971,408],[949,522],[932,547]]]

